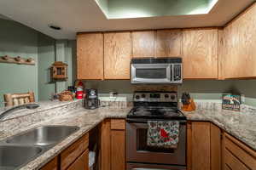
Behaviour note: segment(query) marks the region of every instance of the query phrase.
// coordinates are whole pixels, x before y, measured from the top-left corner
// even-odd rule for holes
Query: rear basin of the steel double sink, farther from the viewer
[[[69,126],[44,126],[33,128],[32,130],[20,133],[9,139],[6,139],[8,144],[26,144],[26,145],[49,145],[56,144],[62,139],[67,138],[70,134],[77,131],[79,127]]]

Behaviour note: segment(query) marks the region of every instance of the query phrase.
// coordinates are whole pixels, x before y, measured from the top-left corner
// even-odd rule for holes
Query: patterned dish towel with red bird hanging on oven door
[[[148,121],[148,146],[177,148],[179,122]]]

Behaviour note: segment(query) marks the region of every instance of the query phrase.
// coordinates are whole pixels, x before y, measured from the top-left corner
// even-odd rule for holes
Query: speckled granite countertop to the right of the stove
[[[183,114],[190,121],[212,122],[256,150],[255,111],[197,110]]]

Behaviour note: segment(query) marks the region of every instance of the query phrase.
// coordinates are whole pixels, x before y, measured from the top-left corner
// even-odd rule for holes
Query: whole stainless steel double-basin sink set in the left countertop
[[[0,141],[0,170],[19,169],[77,130],[74,126],[43,126]]]

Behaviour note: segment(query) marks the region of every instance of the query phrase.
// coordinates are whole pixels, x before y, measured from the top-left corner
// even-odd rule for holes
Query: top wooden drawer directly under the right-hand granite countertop
[[[239,140],[225,133],[224,146],[225,150],[230,151],[232,156],[236,157],[250,169],[256,167],[256,152],[248,148],[247,145],[242,144]]]

